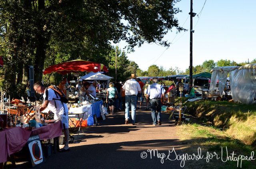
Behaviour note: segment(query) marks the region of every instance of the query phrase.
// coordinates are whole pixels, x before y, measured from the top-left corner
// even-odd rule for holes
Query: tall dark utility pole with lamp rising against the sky
[[[193,0],[190,0],[190,65],[189,65],[189,90],[192,89],[192,75],[193,75],[193,55],[192,55],[192,44],[193,44],[193,17],[196,16],[196,13],[193,13]],[[190,92],[189,91],[189,92]]]

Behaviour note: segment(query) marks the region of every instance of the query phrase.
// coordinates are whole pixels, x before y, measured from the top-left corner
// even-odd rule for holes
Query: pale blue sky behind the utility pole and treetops
[[[193,12],[198,14],[204,2],[193,0]],[[181,0],[175,6],[182,10],[176,15],[180,26],[185,23],[183,28],[189,30],[190,0]],[[210,59],[229,59],[238,63],[255,59],[255,6],[255,0],[206,0],[199,20],[198,16],[193,18],[193,66]],[[136,47],[133,53],[128,53],[128,59],[135,61],[143,71],[153,64],[166,70],[178,67],[185,71],[190,64],[190,33],[178,33],[174,39],[175,36],[176,29],[173,29],[164,37],[173,43],[167,50],[156,44],[145,43],[142,47]],[[120,42],[117,45],[122,49],[126,44]]]

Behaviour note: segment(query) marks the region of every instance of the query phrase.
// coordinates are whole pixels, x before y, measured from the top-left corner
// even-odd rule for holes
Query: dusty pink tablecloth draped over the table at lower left
[[[18,152],[24,147],[28,138],[39,135],[40,140],[48,140],[62,135],[61,123],[36,128],[32,131],[21,127],[8,128],[0,131],[0,163],[7,161],[8,155]]]

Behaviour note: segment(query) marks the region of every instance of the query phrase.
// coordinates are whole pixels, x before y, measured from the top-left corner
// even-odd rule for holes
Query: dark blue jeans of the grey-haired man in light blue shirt
[[[156,111],[158,112],[157,114],[157,121],[161,121],[161,99],[160,98],[153,98],[150,100],[150,105],[151,105],[151,116],[153,120],[153,124],[156,124]]]

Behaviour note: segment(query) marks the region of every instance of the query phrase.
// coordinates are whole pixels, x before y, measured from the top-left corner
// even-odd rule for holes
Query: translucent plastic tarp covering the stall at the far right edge
[[[255,69],[240,68],[239,70],[230,72],[230,90],[232,98],[234,102],[253,104],[256,92]]]

